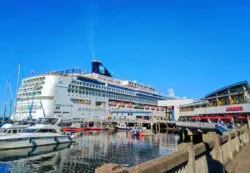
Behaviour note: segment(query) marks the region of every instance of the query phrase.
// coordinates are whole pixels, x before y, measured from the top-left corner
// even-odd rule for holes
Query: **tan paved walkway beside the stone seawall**
[[[227,173],[249,173],[250,172],[250,143],[241,148],[232,161],[226,165]]]

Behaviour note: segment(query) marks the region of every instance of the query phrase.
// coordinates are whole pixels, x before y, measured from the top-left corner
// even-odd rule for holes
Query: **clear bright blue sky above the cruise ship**
[[[1,1],[0,104],[18,63],[22,77],[90,70],[92,52],[117,78],[203,97],[249,81],[249,19],[247,1]]]

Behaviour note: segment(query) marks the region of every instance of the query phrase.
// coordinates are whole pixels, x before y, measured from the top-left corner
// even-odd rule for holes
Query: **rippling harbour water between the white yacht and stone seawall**
[[[131,167],[176,150],[178,137],[128,132],[84,133],[76,144],[0,152],[0,173],[92,173],[104,163]]]

